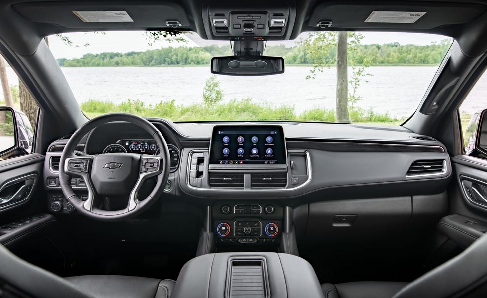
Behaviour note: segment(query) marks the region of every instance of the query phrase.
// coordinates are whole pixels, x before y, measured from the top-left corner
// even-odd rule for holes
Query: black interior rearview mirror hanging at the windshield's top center
[[[282,74],[284,59],[269,56],[226,56],[211,59],[211,73],[229,76]]]

